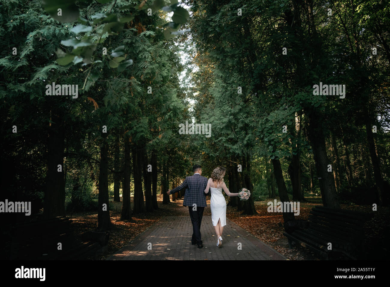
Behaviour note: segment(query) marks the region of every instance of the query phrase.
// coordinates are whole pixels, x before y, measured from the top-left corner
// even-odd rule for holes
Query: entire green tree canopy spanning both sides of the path
[[[268,196],[269,159],[281,159],[287,179],[292,157],[299,155],[308,191],[309,167],[315,166],[308,111],[323,123],[316,132],[336,135],[342,164],[349,150],[356,185],[372,185],[363,170],[365,122],[377,125],[375,144],[389,179],[388,3],[313,1],[318,37],[307,17],[308,2],[297,3],[186,1],[189,13],[174,0],[0,1],[0,148],[4,164],[14,166],[5,175],[7,188],[42,200],[48,130],[63,122],[67,195],[77,209],[95,207],[101,144],[109,144],[110,171],[121,171],[125,138],[131,148],[144,148],[148,160],[151,151],[157,153],[159,174],[165,163],[170,179],[184,177],[194,163],[208,176],[218,165],[231,169],[248,157],[257,197]],[[337,7],[332,17],[324,5]],[[318,41],[320,59],[314,57]],[[320,81],[345,84],[346,98],[313,95]],[[78,85],[78,98],[47,96],[52,82]],[[211,123],[211,137],[179,135],[178,125],[192,119]],[[14,125],[17,133],[11,132]],[[346,168],[341,169],[347,189]]]

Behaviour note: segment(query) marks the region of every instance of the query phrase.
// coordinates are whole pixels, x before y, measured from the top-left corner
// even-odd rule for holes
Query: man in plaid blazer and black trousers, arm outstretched
[[[167,194],[177,193],[186,188],[184,194],[183,205],[188,206],[192,222],[192,245],[197,244],[198,248],[203,248],[202,235],[200,234],[200,224],[202,223],[202,216],[204,208],[206,207],[206,194],[204,190],[207,186],[207,178],[202,176],[202,168],[195,164],[192,167],[194,175],[187,176],[184,182],[178,187],[168,190]]]

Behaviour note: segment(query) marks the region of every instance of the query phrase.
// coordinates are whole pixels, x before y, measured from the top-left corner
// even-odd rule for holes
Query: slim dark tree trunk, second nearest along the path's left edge
[[[124,171],[122,186],[122,211],[121,220],[131,220],[130,177],[131,177],[130,139],[124,138]]]

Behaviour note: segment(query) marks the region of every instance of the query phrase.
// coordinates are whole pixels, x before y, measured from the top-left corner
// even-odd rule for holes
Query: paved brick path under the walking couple
[[[216,247],[211,216],[203,216],[200,232],[204,248],[191,245],[190,216],[164,216],[160,221],[107,260],[285,260],[264,242],[229,219],[223,229],[223,246]],[[230,235],[230,236],[229,236]],[[151,243],[151,244],[150,244]],[[241,243],[241,250],[238,250]],[[148,250],[149,246],[149,250]],[[151,246],[151,250],[150,250]]]

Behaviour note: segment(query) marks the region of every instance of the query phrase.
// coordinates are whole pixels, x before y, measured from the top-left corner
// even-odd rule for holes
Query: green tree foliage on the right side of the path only
[[[303,164],[314,167],[307,139],[308,112],[321,119],[315,132],[325,137],[332,132],[340,139],[339,148],[346,138],[365,144],[365,107],[372,112],[370,121],[388,119],[384,115],[388,112],[382,112],[388,111],[388,104],[385,107],[378,101],[388,99],[379,87],[387,85],[389,75],[389,38],[384,33],[389,27],[388,4],[312,4],[315,27],[309,22],[308,2],[232,0],[192,5],[192,43],[188,46],[198,52],[188,75],[194,83],[190,89],[195,95],[194,116],[196,122],[213,123],[212,139],[197,141],[207,155],[205,160],[230,165],[231,159],[241,155],[288,161],[298,155]],[[333,9],[332,17],[327,15],[328,6]],[[287,48],[285,55],[283,47]],[[381,53],[372,55],[372,47]],[[319,82],[345,84],[346,98],[315,96],[312,87]],[[242,94],[237,93],[238,87]],[[362,96],[356,98],[355,91]],[[376,91],[381,91],[380,96]],[[380,125],[388,127],[388,120]],[[386,160],[382,163],[388,166]],[[282,162],[282,168],[289,178],[289,162]],[[303,170],[307,188],[309,170]],[[262,183],[254,180],[254,184],[259,189]],[[286,184],[291,192],[290,182]]]

